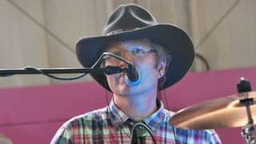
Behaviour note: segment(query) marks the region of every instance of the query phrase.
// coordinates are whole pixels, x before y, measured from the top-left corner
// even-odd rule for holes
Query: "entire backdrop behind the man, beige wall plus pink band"
[[[190,74],[166,90],[170,110],[235,94],[242,76],[256,86],[255,0],[0,0],[0,69],[82,67],[78,39],[101,35],[114,9],[127,3],[193,39]],[[67,119],[106,106],[106,90],[91,81],[89,75],[65,82],[43,75],[0,78],[0,133],[14,143],[49,143]],[[223,143],[243,143],[240,130],[218,134]]]

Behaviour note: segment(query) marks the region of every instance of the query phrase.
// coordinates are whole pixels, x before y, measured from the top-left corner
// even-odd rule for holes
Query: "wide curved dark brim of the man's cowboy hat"
[[[194,45],[188,34],[178,26],[158,24],[139,30],[130,30],[118,34],[82,38],[76,45],[78,61],[84,67],[91,67],[100,57],[106,45],[112,41],[148,38],[162,45],[171,55],[166,69],[166,81],[161,90],[174,85],[182,79],[194,61]],[[104,74],[90,74],[100,85],[110,90]],[[110,90],[111,91],[111,90]]]

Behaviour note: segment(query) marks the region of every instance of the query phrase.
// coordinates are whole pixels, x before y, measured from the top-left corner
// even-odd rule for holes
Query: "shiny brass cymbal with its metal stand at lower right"
[[[179,110],[170,118],[170,125],[182,129],[206,130],[242,127],[246,143],[256,143],[256,91],[244,78],[237,85],[238,94],[216,98]]]

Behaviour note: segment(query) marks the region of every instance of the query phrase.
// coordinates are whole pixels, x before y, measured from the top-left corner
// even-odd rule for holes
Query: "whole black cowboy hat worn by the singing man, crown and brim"
[[[149,11],[135,4],[119,6],[114,10],[104,26],[102,36],[78,40],[78,61],[82,66],[91,67],[109,42],[143,38],[157,42],[171,55],[170,66],[166,69],[166,81],[160,90],[183,78],[194,60],[194,45],[189,35],[178,26],[158,24]],[[110,90],[104,74],[90,75]]]

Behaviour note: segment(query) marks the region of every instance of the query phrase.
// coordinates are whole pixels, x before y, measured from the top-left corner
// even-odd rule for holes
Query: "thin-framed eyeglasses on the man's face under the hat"
[[[117,55],[118,57],[123,58],[125,54],[128,54],[131,58],[142,58],[144,57],[146,54],[149,53],[153,53],[153,52],[157,52],[157,50],[154,49],[149,49],[146,46],[142,46],[142,45],[134,45],[134,46],[130,46],[129,50],[127,51],[113,51],[110,52],[114,55]],[[103,59],[108,62],[116,62],[118,59],[114,58],[110,55],[106,55],[103,57]]]

